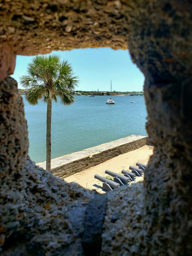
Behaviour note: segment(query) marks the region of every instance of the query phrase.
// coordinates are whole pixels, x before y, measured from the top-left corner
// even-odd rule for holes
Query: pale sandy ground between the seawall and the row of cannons
[[[111,176],[105,174],[106,169],[115,173],[121,173],[123,169],[128,170],[130,165],[136,166],[136,162],[147,164],[149,156],[152,154],[153,147],[145,145],[134,151],[116,156],[115,158],[107,160],[102,164],[98,164],[79,173],[75,173],[69,177],[66,177],[64,180],[66,182],[76,182],[84,188],[88,188],[90,190],[95,189],[100,193],[104,193],[105,191],[101,188],[102,182],[94,178],[95,174],[102,177],[111,178]],[[141,180],[143,180],[143,176],[137,177],[133,182]]]

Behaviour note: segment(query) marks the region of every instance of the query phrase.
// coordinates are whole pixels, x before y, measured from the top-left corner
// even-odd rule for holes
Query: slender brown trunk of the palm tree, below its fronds
[[[47,102],[47,158],[46,170],[51,170],[51,100]]]

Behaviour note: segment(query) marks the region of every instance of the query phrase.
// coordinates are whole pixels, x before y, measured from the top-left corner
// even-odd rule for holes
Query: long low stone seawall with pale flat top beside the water
[[[72,154],[60,156],[51,160],[51,172],[64,179],[74,173],[105,162],[115,156],[138,149],[147,144],[147,137],[131,135],[116,141],[111,141],[95,147],[83,149]],[[46,162],[37,164],[43,169]]]

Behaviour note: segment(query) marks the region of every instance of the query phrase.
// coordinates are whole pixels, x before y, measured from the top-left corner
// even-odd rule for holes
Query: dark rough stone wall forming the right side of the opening
[[[190,255],[192,241],[192,26],[190,1],[138,1],[130,53],[146,76],[148,255]],[[148,3],[148,4],[147,4]],[[156,17],[156,18],[154,18]],[[142,26],[140,26],[142,24]]]

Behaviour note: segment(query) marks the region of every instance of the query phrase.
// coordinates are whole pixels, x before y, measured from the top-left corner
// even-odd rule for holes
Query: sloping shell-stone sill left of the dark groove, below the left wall
[[[81,234],[69,213],[75,208],[84,216],[94,192],[68,185],[29,160],[19,177],[9,175],[0,195],[1,255],[83,255]]]

